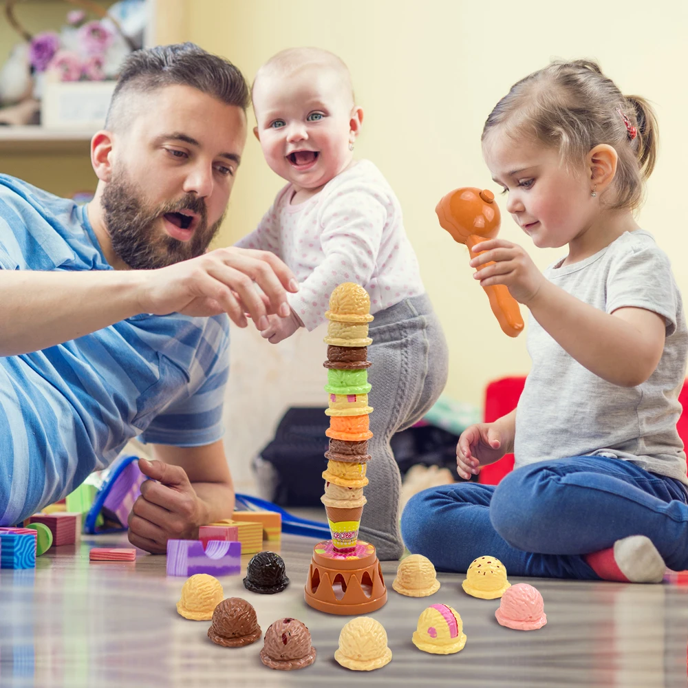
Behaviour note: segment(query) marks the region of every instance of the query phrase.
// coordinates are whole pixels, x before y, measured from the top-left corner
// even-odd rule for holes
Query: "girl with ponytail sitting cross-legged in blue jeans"
[[[542,275],[495,239],[471,260],[530,310],[533,368],[514,412],[464,431],[458,471],[510,451],[516,468],[496,488],[413,497],[405,543],[444,570],[491,555],[515,576],[661,581],[688,568],[688,335],[669,260],[632,215],[656,156],[652,109],[595,63],[554,63],[497,103],[482,145],[515,221],[568,255]]]

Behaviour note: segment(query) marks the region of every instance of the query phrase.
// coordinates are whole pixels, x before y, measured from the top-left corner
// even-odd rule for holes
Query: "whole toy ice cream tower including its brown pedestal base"
[[[332,539],[317,544],[308,572],[305,599],[309,605],[332,614],[363,614],[387,601],[387,590],[375,548],[358,539],[366,499],[363,488],[370,460],[367,347],[370,297],[353,282],[340,284],[330,295],[325,316],[327,328],[327,385],[330,416],[323,473],[327,512]]]

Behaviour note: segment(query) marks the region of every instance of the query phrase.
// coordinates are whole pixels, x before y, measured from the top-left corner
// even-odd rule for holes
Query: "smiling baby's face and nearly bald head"
[[[349,144],[360,117],[334,70],[313,66],[288,76],[261,75],[253,107],[255,133],[270,169],[297,191],[319,191],[351,164]]]

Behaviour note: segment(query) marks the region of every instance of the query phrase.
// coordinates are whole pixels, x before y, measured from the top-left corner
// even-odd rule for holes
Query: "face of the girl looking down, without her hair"
[[[483,141],[492,178],[508,193],[506,209],[539,248],[581,237],[599,215],[590,170],[566,164],[557,149],[515,141],[493,129]]]

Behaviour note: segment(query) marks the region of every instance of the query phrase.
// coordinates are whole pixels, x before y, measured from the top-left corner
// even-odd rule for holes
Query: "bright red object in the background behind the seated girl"
[[[497,418],[506,416],[507,413],[516,408],[518,400],[526,383],[525,377],[502,378],[487,385],[485,391],[485,413],[484,422],[491,423]],[[683,383],[683,387],[678,395],[683,410],[688,409],[688,381]],[[684,445],[688,445],[688,413],[681,413],[676,430]],[[483,466],[478,475],[478,482],[486,485],[497,485],[502,478],[513,470],[514,455],[506,454],[499,461]]]

